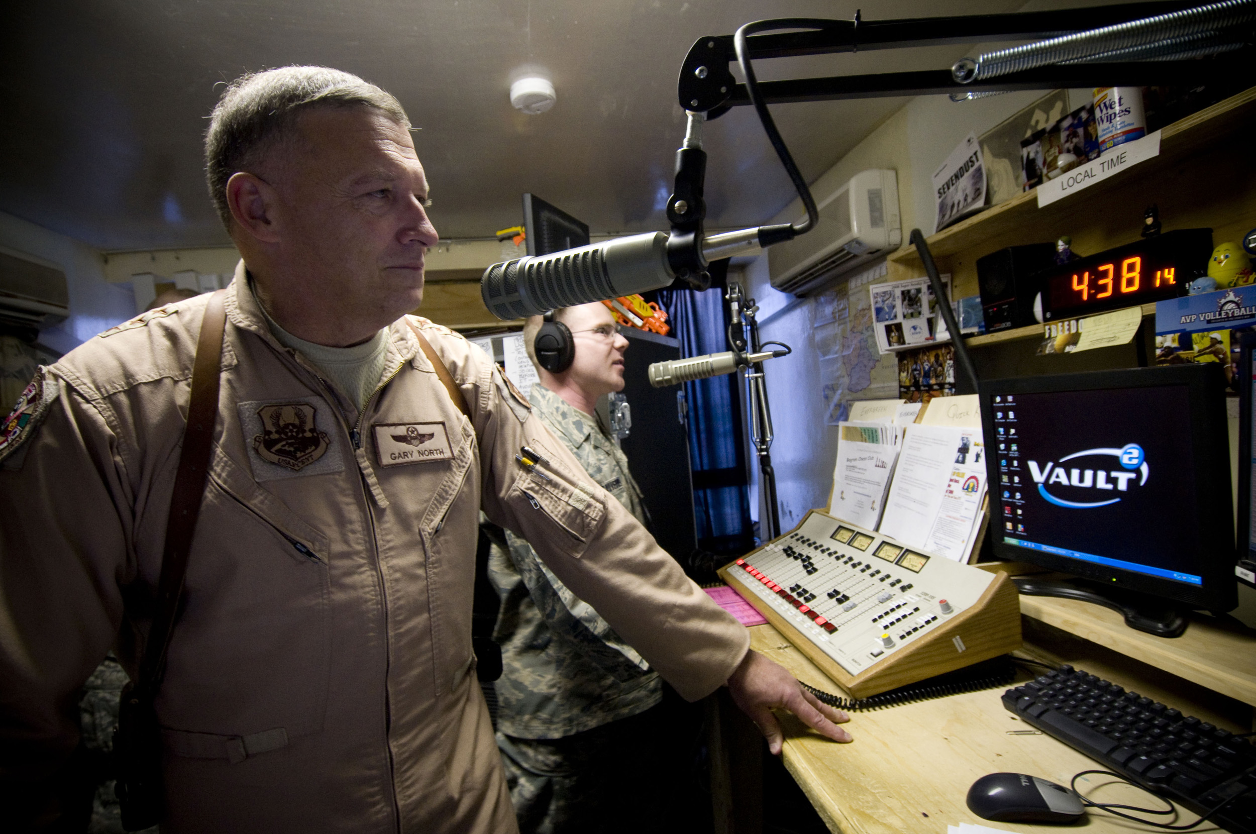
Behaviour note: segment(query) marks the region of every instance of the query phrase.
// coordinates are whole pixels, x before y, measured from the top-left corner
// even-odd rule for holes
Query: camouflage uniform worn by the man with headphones
[[[539,383],[531,403],[589,477],[644,523],[628,458],[595,418]],[[524,831],[589,830],[582,818],[600,793],[590,781],[605,781],[598,762],[633,757],[607,750],[631,741],[605,725],[658,705],[662,682],[528,541],[510,531],[506,541],[509,551],[494,546],[489,556],[489,578],[501,597],[494,633],[504,669],[496,682],[497,746],[510,796]]]

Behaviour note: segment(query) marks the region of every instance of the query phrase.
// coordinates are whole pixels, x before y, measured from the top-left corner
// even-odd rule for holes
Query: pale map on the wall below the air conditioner
[[[815,296],[813,335],[820,355],[825,422],[830,426],[844,421],[857,399],[898,396],[898,363],[893,354],[882,355],[877,348],[872,299],[863,289],[887,271],[882,263]]]

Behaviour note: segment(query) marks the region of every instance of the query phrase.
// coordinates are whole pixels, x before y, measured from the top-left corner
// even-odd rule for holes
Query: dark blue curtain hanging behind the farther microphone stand
[[[659,301],[682,357],[728,349],[722,288],[664,290]],[[745,553],[754,541],[739,381],[727,374],[685,383],[698,546],[712,553]]]

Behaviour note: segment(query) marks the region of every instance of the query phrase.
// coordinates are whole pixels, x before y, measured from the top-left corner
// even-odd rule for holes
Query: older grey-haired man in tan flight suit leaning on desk
[[[437,242],[408,127],[392,95],[320,68],[239,79],[210,123],[242,263],[156,700],[163,834],[515,829],[471,652],[481,507],[683,696],[727,683],[774,752],[779,707],[849,740],[487,355],[404,315]],[[84,680],[111,647],[136,674],[206,304],[41,368],[0,425],[0,799],[19,830],[55,816]]]

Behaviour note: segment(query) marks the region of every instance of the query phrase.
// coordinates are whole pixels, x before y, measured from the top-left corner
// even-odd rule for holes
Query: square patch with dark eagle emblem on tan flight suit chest
[[[237,403],[240,430],[257,481],[344,470],[340,432],[318,397]]]

